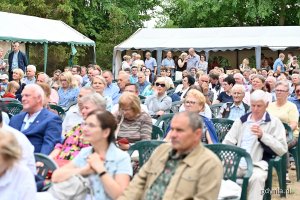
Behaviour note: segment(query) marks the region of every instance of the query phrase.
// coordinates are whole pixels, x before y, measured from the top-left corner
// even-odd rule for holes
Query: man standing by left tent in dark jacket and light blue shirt
[[[20,51],[20,43],[13,43],[13,51],[8,55],[8,74],[9,80],[12,80],[12,71],[20,68],[23,72],[26,72],[26,66],[28,65],[27,58],[23,52]]]

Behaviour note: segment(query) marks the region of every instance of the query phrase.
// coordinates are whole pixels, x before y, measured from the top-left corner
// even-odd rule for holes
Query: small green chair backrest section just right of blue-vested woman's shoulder
[[[226,134],[231,129],[234,121],[230,120],[230,119],[225,119],[225,118],[220,118],[220,119],[213,118],[213,119],[211,119],[211,121],[214,124],[215,130],[216,130],[216,133],[217,133],[217,136],[219,139],[219,143],[222,143]]]

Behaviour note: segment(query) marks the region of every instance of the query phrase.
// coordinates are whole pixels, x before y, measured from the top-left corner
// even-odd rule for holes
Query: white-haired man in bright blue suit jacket
[[[48,155],[61,139],[60,117],[43,108],[45,94],[36,84],[22,91],[23,112],[13,116],[9,126],[21,131],[34,146],[35,153]]]

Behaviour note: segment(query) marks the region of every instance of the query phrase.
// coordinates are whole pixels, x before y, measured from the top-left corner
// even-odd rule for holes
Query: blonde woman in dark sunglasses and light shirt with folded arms
[[[172,107],[172,99],[166,93],[170,88],[169,82],[164,77],[159,77],[155,82],[154,94],[148,96],[145,104],[152,118],[168,113]]]

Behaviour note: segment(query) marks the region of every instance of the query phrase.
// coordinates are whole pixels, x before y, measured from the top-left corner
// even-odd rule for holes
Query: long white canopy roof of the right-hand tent
[[[163,50],[226,51],[255,48],[257,66],[261,48],[284,50],[300,47],[300,26],[220,27],[220,28],[143,28],[114,48],[114,69],[119,69],[121,51],[157,50],[158,65]]]

